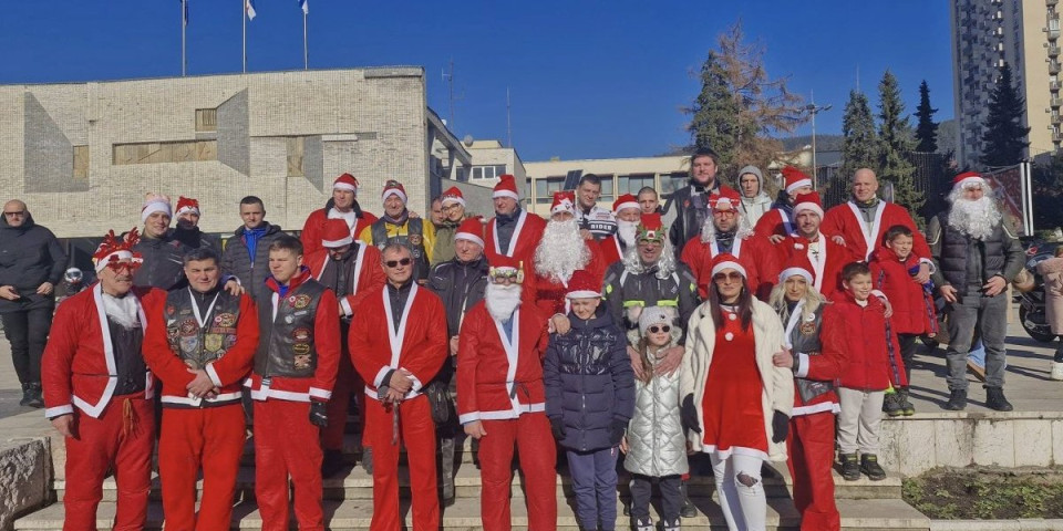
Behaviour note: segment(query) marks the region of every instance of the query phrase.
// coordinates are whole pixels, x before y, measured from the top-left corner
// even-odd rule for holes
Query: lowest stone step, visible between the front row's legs
[[[684,530],[710,531],[725,529],[726,522],[720,507],[708,498],[695,498],[694,504],[699,509],[695,518],[683,519]],[[861,531],[927,531],[930,520],[902,500],[843,500],[838,506],[842,512],[842,528]],[[96,525],[101,530],[110,530],[114,518],[114,502],[103,502],[97,512]],[[412,529],[410,502],[403,500],[401,511],[406,520],[407,529]],[[512,506],[513,529],[527,529],[527,509],[523,500],[516,498]],[[653,520],[659,521],[657,510],[652,511]],[[353,531],[369,529],[372,518],[372,500],[328,500],[324,502],[326,525],[333,531]],[[474,498],[461,499],[454,506],[443,509],[443,529],[446,531],[483,529],[479,520],[479,501]],[[148,507],[147,530],[161,530],[163,510],[158,502]],[[295,523],[295,522],[292,522]],[[231,529],[261,529],[261,518],[254,502],[246,501],[236,506],[233,513]],[[576,530],[578,528],[572,508],[565,499],[558,499],[558,529]],[[768,500],[767,529],[794,530],[799,525],[799,518],[793,502],[788,499]],[[62,503],[53,503],[34,513],[22,517],[14,522],[17,531],[59,531],[63,527]],[[617,529],[628,529],[629,520],[618,509]]]

